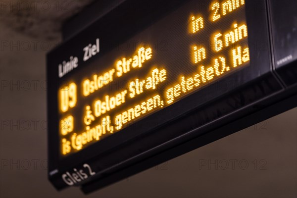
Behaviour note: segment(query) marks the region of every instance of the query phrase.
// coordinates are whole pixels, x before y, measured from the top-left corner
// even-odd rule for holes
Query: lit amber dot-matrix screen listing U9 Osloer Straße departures
[[[248,67],[245,5],[191,0],[101,56],[98,36],[64,57],[55,65],[60,158]]]

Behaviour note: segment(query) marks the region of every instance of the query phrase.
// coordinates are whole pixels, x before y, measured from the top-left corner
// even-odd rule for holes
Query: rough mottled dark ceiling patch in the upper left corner
[[[35,39],[54,40],[62,23],[93,0],[1,0],[1,23]]]

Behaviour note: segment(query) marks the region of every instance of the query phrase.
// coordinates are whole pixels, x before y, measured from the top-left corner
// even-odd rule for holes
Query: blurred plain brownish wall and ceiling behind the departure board
[[[0,0],[1,198],[84,197],[47,180],[45,55],[90,2]],[[297,108],[88,197],[296,198]]]

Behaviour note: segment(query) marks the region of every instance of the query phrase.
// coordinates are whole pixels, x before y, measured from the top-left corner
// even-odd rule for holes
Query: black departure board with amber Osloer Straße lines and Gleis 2
[[[273,74],[266,6],[127,0],[53,49],[54,186],[91,192],[248,125],[223,128],[286,90]]]

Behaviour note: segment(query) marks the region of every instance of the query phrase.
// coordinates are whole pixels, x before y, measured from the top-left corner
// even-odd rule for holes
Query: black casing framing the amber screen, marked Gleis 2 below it
[[[273,15],[273,9],[268,12],[268,8],[273,5],[266,0],[246,0],[249,66],[141,119],[119,133],[60,158],[56,65],[65,57],[75,55],[77,46],[83,47],[85,43],[92,42],[98,36],[96,30],[99,27],[107,27],[105,32],[100,32],[100,38],[110,38],[100,44],[105,49],[99,54],[102,56],[187,2],[126,0],[75,36],[65,38],[63,44],[49,52],[49,180],[57,190],[67,187],[61,174],[82,167],[85,163],[92,167],[96,175],[77,185],[82,186],[83,192],[90,193],[297,106],[296,83],[287,83],[283,79],[286,79],[285,74],[281,74],[273,63],[276,55],[272,57],[271,45],[274,46],[274,52],[278,49],[270,40],[271,35],[275,37],[275,33],[269,32],[269,28],[273,28],[269,24],[274,24],[274,20],[273,17],[269,18],[269,15]],[[145,17],[136,18],[140,13]],[[83,23],[87,18],[82,15],[80,20]],[[125,26],[123,21],[126,22]],[[120,35],[110,32],[108,24],[120,27],[123,31]],[[293,50],[296,51],[296,48]],[[297,68],[296,60],[290,65],[283,66],[287,72]]]

